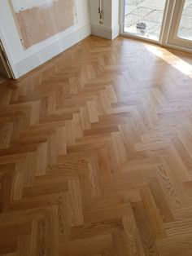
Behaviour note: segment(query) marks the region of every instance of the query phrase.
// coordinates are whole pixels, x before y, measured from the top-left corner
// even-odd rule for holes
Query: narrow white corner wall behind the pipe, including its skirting
[[[120,33],[119,0],[103,0],[103,24],[99,24],[98,0],[89,0],[91,33],[114,39]]]

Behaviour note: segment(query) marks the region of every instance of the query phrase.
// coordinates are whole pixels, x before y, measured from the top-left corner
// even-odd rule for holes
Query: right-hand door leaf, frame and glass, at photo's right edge
[[[192,0],[175,2],[168,43],[192,49]]]

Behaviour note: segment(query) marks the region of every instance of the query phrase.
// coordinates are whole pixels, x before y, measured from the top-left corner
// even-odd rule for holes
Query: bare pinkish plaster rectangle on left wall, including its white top
[[[24,48],[74,24],[73,0],[10,0]]]

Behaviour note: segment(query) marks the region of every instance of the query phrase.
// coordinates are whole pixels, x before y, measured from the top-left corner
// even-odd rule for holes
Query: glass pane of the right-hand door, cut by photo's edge
[[[177,36],[192,40],[192,0],[186,0]]]

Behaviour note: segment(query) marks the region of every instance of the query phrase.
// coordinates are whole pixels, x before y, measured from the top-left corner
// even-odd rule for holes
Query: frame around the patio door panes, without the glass
[[[155,44],[159,44],[161,46],[166,46],[166,47],[173,48],[176,50],[192,53],[192,49],[186,48],[184,46],[176,45],[176,44],[170,42],[170,40],[169,40],[171,26],[172,26],[172,18],[174,15],[175,6],[176,6],[177,1],[181,1],[181,0],[166,0],[165,9],[164,9],[164,17],[163,17],[163,21],[162,21],[162,27],[161,27],[161,32],[160,32],[160,36],[159,36],[159,41],[155,41],[150,38],[142,38],[137,35],[124,32],[124,6],[125,6],[124,2],[125,2],[125,0],[120,0],[120,35],[123,37],[126,37],[126,38],[136,38],[136,39],[144,40],[146,42],[155,42]],[[182,1],[185,1],[185,0],[182,0]],[[182,11],[181,11],[181,13],[182,13]],[[181,18],[178,20],[179,21],[177,21],[177,22],[180,23]]]

